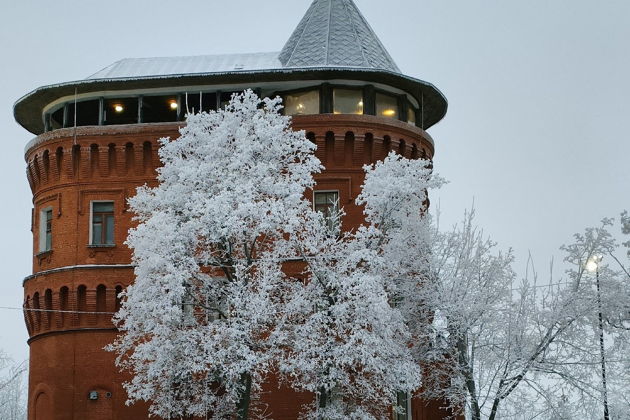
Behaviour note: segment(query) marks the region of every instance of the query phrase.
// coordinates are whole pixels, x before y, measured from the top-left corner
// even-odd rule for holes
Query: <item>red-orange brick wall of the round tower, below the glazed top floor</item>
[[[423,130],[400,121],[361,115],[296,116],[327,168],[316,189],[339,191],[344,226],[363,221],[354,205],[363,183],[362,166],[394,150],[408,158],[432,158],[433,141]],[[29,332],[29,420],[134,420],[146,406],[124,405],[114,355],[103,347],[116,331],[117,292],[133,281],[131,252],[124,245],[133,226],[127,198],[155,184],[158,139],[178,136],[181,123],[59,129],[35,138],[26,152],[33,192],[33,275],[24,280]],[[309,194],[309,198],[310,194]],[[90,246],[90,203],[114,203],[114,245]],[[52,247],[40,252],[41,211],[52,208]],[[37,310],[43,311],[37,311]],[[46,312],[51,311],[51,312]],[[69,312],[63,312],[69,311]],[[77,311],[103,312],[81,314]],[[262,404],[275,419],[295,419],[309,395],[265,386]],[[97,400],[88,399],[90,391]],[[441,418],[433,404],[414,399],[414,418]],[[435,406],[435,407],[433,407]]]

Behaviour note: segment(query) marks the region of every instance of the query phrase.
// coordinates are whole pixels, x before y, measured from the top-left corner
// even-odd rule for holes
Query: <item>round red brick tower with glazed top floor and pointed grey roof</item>
[[[446,112],[434,86],[400,73],[352,0],[315,0],[280,53],[126,59],[21,98],[16,120],[36,135],[25,152],[29,420],[147,418],[146,406],[125,405],[127,378],[103,350],[116,335],[117,294],[133,281],[126,199],[155,183],[157,139],[177,137],[186,109],[217,109],[245,88],[283,96],[326,166],[311,198],[317,207],[338,197],[346,227],[363,220],[353,204],[362,165],[391,150],[432,158],[425,129]],[[296,418],[295,395],[265,398],[272,418]],[[400,419],[439,419],[438,405],[410,399]]]

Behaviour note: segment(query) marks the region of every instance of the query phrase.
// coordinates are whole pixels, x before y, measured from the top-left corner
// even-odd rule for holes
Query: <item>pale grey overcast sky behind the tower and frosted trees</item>
[[[355,0],[402,71],[448,98],[429,130],[450,184],[442,224],[473,198],[478,222],[540,271],[558,247],[630,209],[630,2]],[[279,51],[310,0],[0,0],[0,306],[31,272],[31,194],[16,99],[125,57]],[[20,311],[0,309],[0,348],[27,357]]]

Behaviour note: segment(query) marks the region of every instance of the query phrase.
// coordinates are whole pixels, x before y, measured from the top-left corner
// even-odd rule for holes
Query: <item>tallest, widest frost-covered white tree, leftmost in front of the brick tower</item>
[[[252,91],[161,140],[158,186],[130,200],[136,280],[111,346],[130,402],[164,418],[247,418],[273,368],[285,243],[302,229],[315,145]]]

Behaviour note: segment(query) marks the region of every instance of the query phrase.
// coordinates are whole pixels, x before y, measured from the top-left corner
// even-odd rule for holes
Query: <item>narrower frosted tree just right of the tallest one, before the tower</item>
[[[414,340],[398,307],[404,284],[397,251],[418,233],[405,231],[408,220],[423,223],[426,190],[441,181],[429,162],[393,153],[365,169],[357,204],[366,224],[337,237],[314,220],[295,243],[310,281],[287,302],[296,322],[281,368],[293,387],[317,395],[312,418],[384,418],[398,392],[420,386]]]

